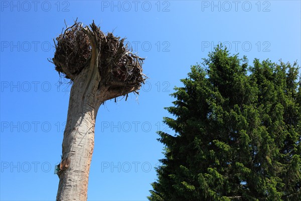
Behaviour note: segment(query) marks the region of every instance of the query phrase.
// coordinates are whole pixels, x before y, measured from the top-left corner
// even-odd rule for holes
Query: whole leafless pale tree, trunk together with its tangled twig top
[[[56,199],[86,200],[97,111],[108,99],[138,94],[146,78],[143,58],[94,21],[90,26],[75,21],[56,40],[51,62],[72,82]]]

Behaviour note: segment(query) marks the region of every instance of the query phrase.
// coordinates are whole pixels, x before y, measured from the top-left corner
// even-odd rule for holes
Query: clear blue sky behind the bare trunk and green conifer
[[[1,200],[55,200],[70,86],[47,61],[77,17],[126,37],[149,77],[98,112],[88,200],[146,200],[163,158],[156,131],[190,66],[232,53],[300,65],[300,1],[1,1]]]

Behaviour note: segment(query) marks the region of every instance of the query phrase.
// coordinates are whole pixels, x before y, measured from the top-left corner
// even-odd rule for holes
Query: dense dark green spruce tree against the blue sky
[[[301,200],[296,63],[259,62],[218,46],[166,108],[165,158],[149,200]]]

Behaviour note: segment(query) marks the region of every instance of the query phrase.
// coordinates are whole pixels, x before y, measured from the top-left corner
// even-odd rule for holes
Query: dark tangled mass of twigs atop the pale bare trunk
[[[55,69],[72,81],[84,68],[93,66],[97,69],[93,73],[99,73],[96,76],[99,77],[99,89],[105,87],[113,90],[114,94],[125,95],[137,92],[146,79],[142,73],[144,58],[132,53],[124,45],[124,38],[115,37],[112,33],[105,35],[94,22],[85,27],[75,22],[56,40],[52,59]]]

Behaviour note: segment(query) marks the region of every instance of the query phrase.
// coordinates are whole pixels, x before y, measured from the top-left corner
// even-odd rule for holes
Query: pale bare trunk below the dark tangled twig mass
[[[95,98],[96,79],[87,87],[90,90],[85,91],[88,76],[86,72],[81,73],[70,93],[57,200],[87,200],[95,120],[103,100]]]

